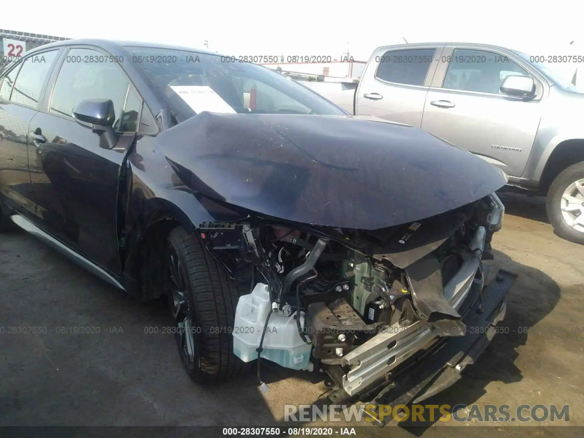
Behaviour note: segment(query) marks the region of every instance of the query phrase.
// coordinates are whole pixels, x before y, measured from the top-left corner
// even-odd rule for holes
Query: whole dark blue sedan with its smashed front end
[[[325,374],[336,403],[448,387],[515,281],[485,284],[482,263],[506,181],[215,53],[67,40],[0,77],[0,228],[140,300],[167,296],[197,383],[253,361],[260,379],[260,356]]]

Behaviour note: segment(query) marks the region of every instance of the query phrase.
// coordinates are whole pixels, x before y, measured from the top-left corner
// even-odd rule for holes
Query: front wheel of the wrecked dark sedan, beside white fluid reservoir
[[[236,376],[246,368],[231,334],[242,289],[185,228],[171,231],[167,249],[169,305],[184,369],[203,384]]]

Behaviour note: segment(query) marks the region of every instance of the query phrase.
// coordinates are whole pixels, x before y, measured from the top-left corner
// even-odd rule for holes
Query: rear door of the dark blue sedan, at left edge
[[[36,200],[30,183],[27,134],[58,52],[29,55],[0,79],[0,197],[2,203],[29,219],[36,213]]]

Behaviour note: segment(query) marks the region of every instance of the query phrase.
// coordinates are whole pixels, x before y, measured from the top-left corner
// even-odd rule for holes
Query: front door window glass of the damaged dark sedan
[[[84,62],[86,59],[103,62]],[[88,48],[72,48],[65,56],[55,81],[50,112],[72,117],[74,107],[81,100],[109,99],[116,113],[114,129],[119,131],[121,124],[124,127],[135,127],[137,117],[121,119],[127,89],[126,77],[116,64],[107,62],[107,57]]]

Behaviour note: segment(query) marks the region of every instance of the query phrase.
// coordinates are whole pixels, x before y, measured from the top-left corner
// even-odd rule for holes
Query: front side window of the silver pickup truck
[[[501,83],[509,75],[529,76],[522,67],[505,55],[457,48],[450,57],[442,87],[502,94]]]

